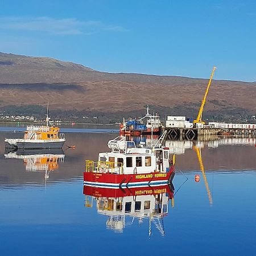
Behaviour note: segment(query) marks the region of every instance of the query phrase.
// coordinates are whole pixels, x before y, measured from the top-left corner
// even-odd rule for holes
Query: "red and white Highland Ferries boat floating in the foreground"
[[[175,156],[162,147],[164,135],[151,147],[144,143],[137,147],[125,137],[110,140],[110,152],[100,153],[97,162],[86,160],[84,185],[125,188],[170,183],[175,174]]]

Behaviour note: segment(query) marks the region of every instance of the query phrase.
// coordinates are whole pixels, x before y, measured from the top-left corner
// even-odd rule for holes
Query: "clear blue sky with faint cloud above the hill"
[[[0,0],[0,51],[105,72],[256,81],[256,1]]]

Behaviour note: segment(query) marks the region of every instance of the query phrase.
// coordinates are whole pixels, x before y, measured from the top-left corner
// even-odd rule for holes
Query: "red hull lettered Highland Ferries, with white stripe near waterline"
[[[84,184],[131,187],[135,185],[154,185],[171,182],[174,178],[174,166],[169,172],[149,172],[147,174],[110,174],[84,172]]]

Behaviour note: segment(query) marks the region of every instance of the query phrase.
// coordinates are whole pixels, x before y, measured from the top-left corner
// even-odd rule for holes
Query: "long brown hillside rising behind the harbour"
[[[195,116],[207,82],[178,76],[106,73],[48,57],[0,53],[0,108],[46,105],[49,101],[51,109],[125,115],[144,112],[148,104],[161,114]],[[204,114],[253,115],[255,95],[255,82],[214,80]]]

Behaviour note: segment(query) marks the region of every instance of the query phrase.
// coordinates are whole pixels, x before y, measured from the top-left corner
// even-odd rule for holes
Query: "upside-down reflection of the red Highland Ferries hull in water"
[[[174,197],[174,188],[167,185],[160,185],[154,187],[137,187],[137,188],[98,188],[84,185],[84,195],[95,197],[125,197],[125,196],[144,196],[144,195],[158,195],[161,193],[168,193],[168,197]]]

